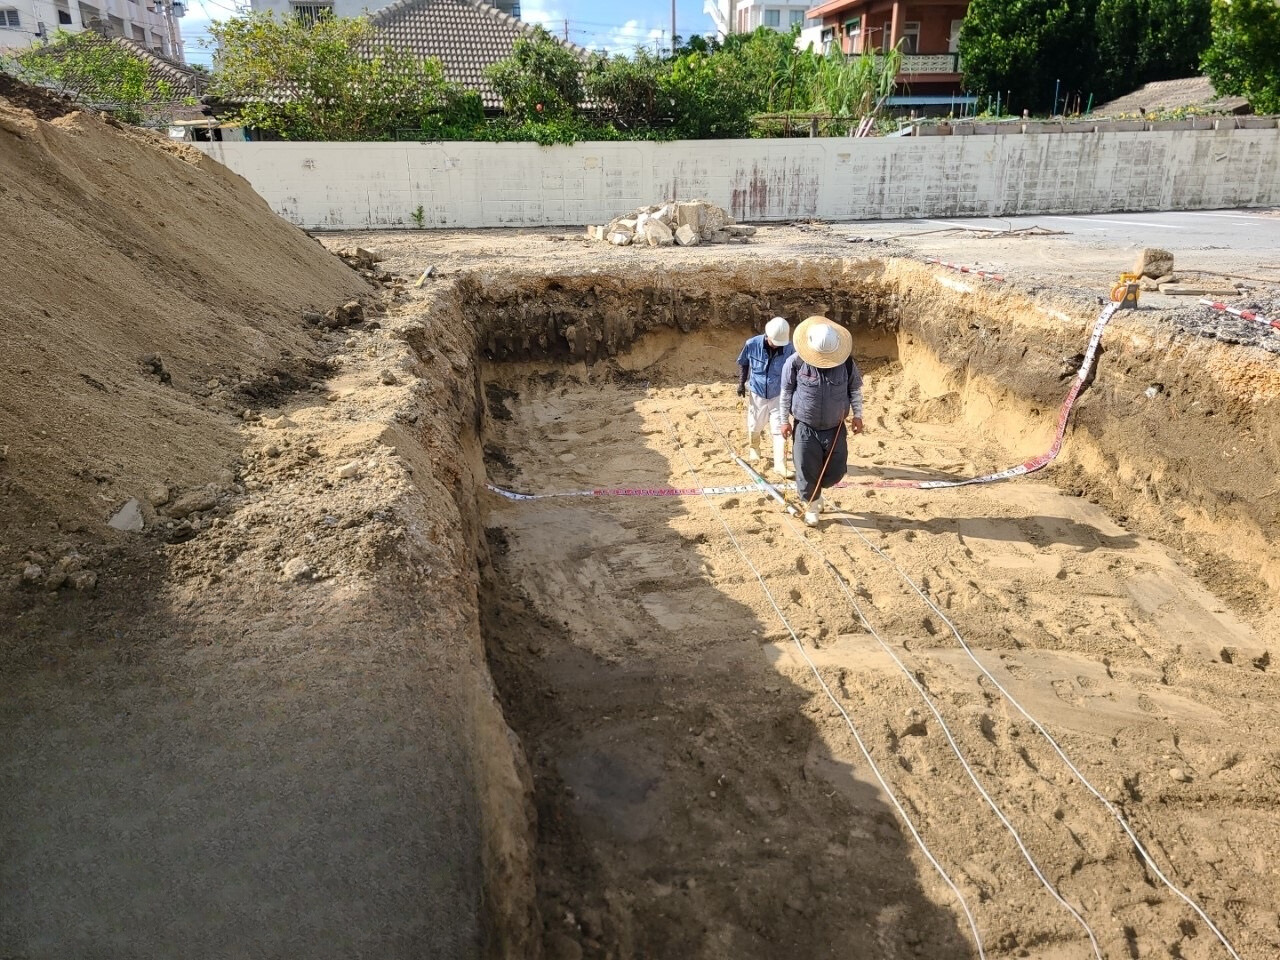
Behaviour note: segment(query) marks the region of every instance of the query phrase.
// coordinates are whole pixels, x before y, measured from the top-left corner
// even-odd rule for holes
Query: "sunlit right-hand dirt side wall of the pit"
[[[881,279],[900,294],[900,351],[932,371],[922,397],[954,402],[1019,457],[1047,449],[1097,312],[940,280],[911,261],[891,261]],[[1194,558],[1215,593],[1256,612],[1280,590],[1277,416],[1271,355],[1121,311],[1050,470]]]

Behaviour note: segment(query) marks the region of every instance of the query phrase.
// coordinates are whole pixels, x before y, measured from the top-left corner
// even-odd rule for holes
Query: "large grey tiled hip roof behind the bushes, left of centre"
[[[477,0],[398,0],[370,22],[388,45],[438,58],[444,78],[476,91],[489,110],[500,109],[502,97],[485,79],[485,68],[509,58],[518,37],[534,33],[534,24]],[[585,49],[564,46],[586,60]]]

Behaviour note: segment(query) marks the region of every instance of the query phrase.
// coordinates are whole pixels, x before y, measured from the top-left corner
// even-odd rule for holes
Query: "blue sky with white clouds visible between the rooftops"
[[[189,63],[209,64],[211,52],[200,45],[209,36],[209,22],[232,15],[233,0],[188,0],[182,36]],[[630,54],[637,46],[671,44],[671,0],[521,0],[521,17],[541,23],[556,36],[581,46]],[[709,33],[712,19],[703,13],[703,0],[676,0],[676,31],[681,36]]]

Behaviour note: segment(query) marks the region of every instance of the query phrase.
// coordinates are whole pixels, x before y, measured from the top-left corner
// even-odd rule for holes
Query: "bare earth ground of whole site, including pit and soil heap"
[[[1144,296],[1055,465],[851,485],[818,530],[756,490],[486,489],[744,483],[733,360],[774,312],[855,333],[851,481],[998,470],[1048,447],[1139,246],[1274,310],[1268,250],[321,246],[23,104],[0,956],[1280,955],[1280,360],[1247,321]],[[385,259],[325,250],[357,246]]]

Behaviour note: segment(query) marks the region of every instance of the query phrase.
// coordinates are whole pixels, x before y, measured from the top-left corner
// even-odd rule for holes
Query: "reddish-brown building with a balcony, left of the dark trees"
[[[960,26],[968,0],[828,0],[806,17],[822,23],[824,52],[850,56],[901,45],[900,95],[891,104],[946,106],[960,97]]]

